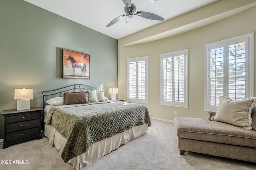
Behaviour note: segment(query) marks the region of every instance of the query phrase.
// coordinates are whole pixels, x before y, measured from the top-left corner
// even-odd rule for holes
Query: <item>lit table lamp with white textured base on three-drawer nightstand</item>
[[[14,100],[17,100],[17,110],[30,109],[30,99],[33,98],[33,89],[15,89]]]

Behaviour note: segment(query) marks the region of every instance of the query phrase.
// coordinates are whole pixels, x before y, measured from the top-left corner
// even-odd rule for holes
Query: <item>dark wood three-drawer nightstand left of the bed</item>
[[[10,145],[42,139],[41,107],[31,107],[26,110],[4,110],[4,142],[3,149]]]

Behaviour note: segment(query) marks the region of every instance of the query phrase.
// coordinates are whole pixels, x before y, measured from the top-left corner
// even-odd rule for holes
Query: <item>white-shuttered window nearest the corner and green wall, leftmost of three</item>
[[[148,57],[127,59],[127,102],[148,103]]]

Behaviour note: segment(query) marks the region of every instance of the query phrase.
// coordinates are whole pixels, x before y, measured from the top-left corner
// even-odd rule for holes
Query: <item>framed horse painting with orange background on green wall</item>
[[[90,55],[63,49],[63,78],[90,79]]]

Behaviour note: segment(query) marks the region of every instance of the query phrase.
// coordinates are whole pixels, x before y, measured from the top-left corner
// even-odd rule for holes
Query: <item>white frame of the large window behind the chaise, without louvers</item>
[[[210,43],[205,45],[205,110],[206,111],[216,111],[218,106],[210,104],[210,50],[223,47],[224,48],[224,80],[223,80],[223,96],[228,97],[228,56],[229,45],[240,43],[242,41],[246,42],[245,47],[245,98],[253,97],[253,77],[254,77],[254,33],[248,33],[245,35],[240,35],[230,39],[225,39],[222,41]],[[225,69],[226,68],[226,69]],[[225,76],[226,75],[226,76]],[[217,101],[218,99],[216,99]]]

